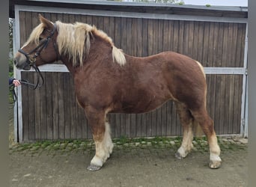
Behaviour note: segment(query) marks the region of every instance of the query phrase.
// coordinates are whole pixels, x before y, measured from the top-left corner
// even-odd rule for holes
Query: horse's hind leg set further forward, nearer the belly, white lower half
[[[181,102],[175,102],[177,113],[180,117],[180,123],[183,126],[183,140],[180,148],[177,150],[175,156],[178,159],[182,159],[186,157],[186,155],[190,152],[193,147],[192,139],[193,139],[193,132],[192,132],[192,123],[193,117],[190,113],[189,109]]]

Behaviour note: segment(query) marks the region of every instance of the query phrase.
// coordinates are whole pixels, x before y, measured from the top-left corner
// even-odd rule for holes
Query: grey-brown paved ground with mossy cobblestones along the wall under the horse
[[[208,167],[207,141],[195,139],[186,159],[176,159],[177,138],[115,141],[100,171],[86,167],[94,156],[90,141],[10,145],[10,186],[248,186],[247,139],[219,138],[222,167]]]

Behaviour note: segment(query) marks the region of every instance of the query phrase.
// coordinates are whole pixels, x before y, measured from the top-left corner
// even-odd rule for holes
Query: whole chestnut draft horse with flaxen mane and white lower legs
[[[174,100],[183,126],[183,141],[175,156],[181,159],[190,152],[192,128],[199,124],[209,142],[210,168],[219,168],[220,149],[207,113],[207,84],[198,61],[176,52],[129,56],[94,26],[39,18],[40,25],[16,53],[14,64],[30,70],[61,60],[67,66],[95,142],[89,171],[99,170],[112,153],[106,114],[152,111],[169,99]]]

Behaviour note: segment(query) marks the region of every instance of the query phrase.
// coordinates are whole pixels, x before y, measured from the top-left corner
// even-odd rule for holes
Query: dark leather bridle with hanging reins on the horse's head
[[[33,67],[34,70],[36,71],[37,73],[37,84],[32,84],[32,83],[29,83],[28,81],[26,80],[20,80],[22,83],[26,84],[26,85],[31,85],[33,86],[34,88],[33,89],[36,89],[38,86],[40,87],[41,85],[43,85],[43,76],[42,74],[40,73],[40,70],[38,69],[38,67],[35,65],[35,62],[37,61],[37,56],[40,56],[40,52],[42,52],[43,49],[45,49],[47,46],[48,46],[48,43],[49,43],[49,40],[51,40],[53,34],[55,34],[55,31],[56,31],[56,24],[53,25],[53,30],[50,32],[49,36],[46,38],[46,39],[43,39],[43,41],[40,41],[39,45],[36,46],[34,49],[31,50],[31,52],[25,52],[23,51],[23,49],[19,49],[18,52],[22,53],[23,55],[25,55],[25,58],[27,58],[27,61],[26,63]],[[59,58],[59,53],[58,53],[58,46],[57,44],[54,42],[53,43],[53,46],[54,46],[54,49],[55,49],[55,52],[56,52],[56,55],[57,55],[57,61],[58,61],[58,58]],[[31,57],[30,55],[34,53],[34,56]],[[40,82],[40,78],[42,79],[42,84],[40,85],[39,82]]]

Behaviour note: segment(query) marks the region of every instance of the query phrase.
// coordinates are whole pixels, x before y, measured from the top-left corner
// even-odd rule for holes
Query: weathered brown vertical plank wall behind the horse
[[[55,22],[86,22],[112,37],[129,55],[180,52],[204,67],[243,67],[246,24],[135,19],[41,13]],[[19,12],[20,43],[39,24],[37,13]],[[23,141],[91,138],[84,111],[76,104],[70,73],[43,73],[45,84],[33,91],[22,86]],[[35,73],[22,79],[36,81]],[[207,108],[217,134],[239,134],[243,76],[207,75]],[[181,135],[175,106],[167,102],[147,114],[109,114],[112,137]]]

